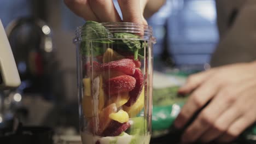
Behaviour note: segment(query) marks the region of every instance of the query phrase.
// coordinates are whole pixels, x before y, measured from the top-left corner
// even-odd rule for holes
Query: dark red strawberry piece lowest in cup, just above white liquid
[[[123,131],[127,130],[131,124],[129,122],[119,123],[118,121],[112,121],[108,125],[108,128],[104,130],[101,136],[118,136]]]

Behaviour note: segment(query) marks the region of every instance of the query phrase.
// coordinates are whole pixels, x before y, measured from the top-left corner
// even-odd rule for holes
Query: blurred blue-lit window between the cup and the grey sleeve
[[[218,43],[214,0],[167,0],[166,5],[149,20],[158,43],[154,54],[164,49],[167,33],[168,50],[176,66],[205,65]],[[167,20],[168,28],[163,27]],[[167,32],[166,32],[167,31]]]

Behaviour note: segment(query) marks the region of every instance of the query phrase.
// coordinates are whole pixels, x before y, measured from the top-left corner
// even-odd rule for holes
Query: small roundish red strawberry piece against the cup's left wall
[[[93,77],[94,79],[95,77],[100,75],[101,64],[96,61],[93,61],[92,63],[88,62],[85,64],[85,71],[86,75],[88,75],[91,78]]]

